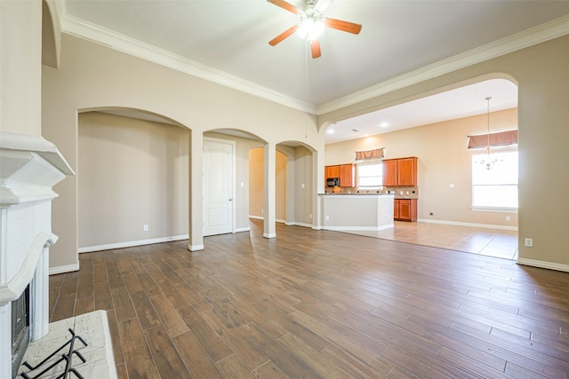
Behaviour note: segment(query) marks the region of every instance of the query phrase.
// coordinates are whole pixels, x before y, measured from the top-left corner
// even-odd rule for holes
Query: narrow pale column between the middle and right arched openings
[[[263,166],[263,237],[276,237],[276,145],[265,145],[265,159]]]

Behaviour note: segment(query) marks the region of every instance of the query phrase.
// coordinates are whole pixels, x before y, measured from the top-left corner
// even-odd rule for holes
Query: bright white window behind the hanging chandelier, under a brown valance
[[[472,156],[472,209],[517,210],[517,151]]]

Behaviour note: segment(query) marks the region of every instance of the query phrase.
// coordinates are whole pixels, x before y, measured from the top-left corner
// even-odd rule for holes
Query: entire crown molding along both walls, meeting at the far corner
[[[242,91],[261,99],[267,99],[277,104],[315,115],[333,112],[342,107],[349,107],[390,91],[397,91],[488,59],[500,57],[509,52],[521,50],[534,44],[569,34],[569,16],[564,16],[316,107],[301,99],[295,99],[282,92],[244,80],[236,75],[230,75],[218,69],[205,66],[195,60],[186,59],[170,51],[165,51],[129,36],[121,35],[108,28],[102,28],[78,19],[68,14],[65,0],[56,1],[56,4],[59,5],[56,7],[56,10],[60,17],[61,31],[63,33],[107,46],[116,51],[122,51],[164,67],[170,67],[212,83],[218,83],[236,91]]]

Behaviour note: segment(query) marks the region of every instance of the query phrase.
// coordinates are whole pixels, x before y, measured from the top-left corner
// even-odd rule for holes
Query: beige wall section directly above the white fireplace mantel
[[[0,4],[0,131],[42,134],[42,3]]]

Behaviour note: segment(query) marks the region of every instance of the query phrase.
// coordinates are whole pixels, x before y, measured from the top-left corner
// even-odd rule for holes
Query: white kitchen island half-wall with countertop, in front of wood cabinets
[[[393,227],[393,193],[319,193],[323,229],[380,231]]]

